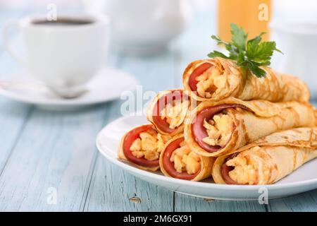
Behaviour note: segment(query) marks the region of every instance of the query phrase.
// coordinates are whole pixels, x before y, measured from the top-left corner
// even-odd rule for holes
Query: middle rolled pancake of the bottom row
[[[190,150],[184,136],[175,136],[166,143],[160,155],[161,172],[167,177],[201,181],[211,176],[213,157],[197,155]]]

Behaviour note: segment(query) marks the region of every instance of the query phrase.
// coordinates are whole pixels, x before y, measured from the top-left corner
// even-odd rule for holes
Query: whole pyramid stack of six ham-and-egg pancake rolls
[[[316,109],[299,78],[261,68],[266,77],[257,78],[230,59],[192,62],[184,88],[156,95],[147,110],[151,124],[128,131],[118,157],[176,179],[282,179],[316,157]]]

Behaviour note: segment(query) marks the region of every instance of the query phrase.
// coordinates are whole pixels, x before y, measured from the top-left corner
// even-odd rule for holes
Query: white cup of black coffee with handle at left
[[[25,57],[15,54],[8,30],[18,25]],[[109,22],[105,16],[27,17],[4,27],[8,52],[30,74],[56,90],[85,85],[104,64]]]

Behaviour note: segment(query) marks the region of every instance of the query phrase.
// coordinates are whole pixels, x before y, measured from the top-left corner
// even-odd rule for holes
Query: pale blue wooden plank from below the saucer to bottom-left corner
[[[0,177],[0,210],[80,210],[109,105],[32,112]]]

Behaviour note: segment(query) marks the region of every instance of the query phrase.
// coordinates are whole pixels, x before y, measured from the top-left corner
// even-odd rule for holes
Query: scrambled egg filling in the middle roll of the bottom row
[[[187,174],[195,174],[201,168],[201,159],[199,155],[189,149],[185,141],[180,143],[180,148],[174,150],[170,156],[170,162],[174,162],[177,172],[187,172]]]

